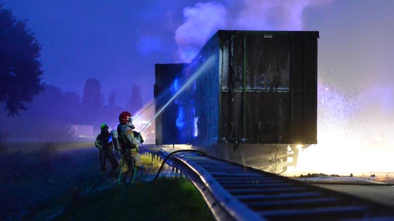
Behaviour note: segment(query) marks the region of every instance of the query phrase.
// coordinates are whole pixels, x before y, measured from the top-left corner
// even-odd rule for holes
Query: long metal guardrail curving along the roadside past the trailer
[[[188,152],[166,163],[187,176],[217,220],[394,220],[394,208],[223,159]]]

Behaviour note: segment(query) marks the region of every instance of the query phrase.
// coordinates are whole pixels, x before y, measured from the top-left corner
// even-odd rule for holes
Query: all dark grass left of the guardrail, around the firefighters
[[[48,220],[64,212],[59,219],[72,216],[71,219],[76,220],[82,219],[86,211],[108,219],[119,216],[117,220],[134,217],[136,212],[141,213],[137,217],[148,220],[159,216],[161,220],[212,218],[199,192],[185,179],[164,178],[154,184],[125,187],[115,185],[86,196],[102,177],[97,150],[88,146],[93,145],[18,143],[0,146],[0,193],[4,200],[0,203],[0,219]],[[145,156],[142,160],[144,176],[150,180],[160,165],[156,161],[151,166],[151,159]],[[108,199],[112,202],[110,206],[106,206]],[[132,213],[123,215],[123,210]]]

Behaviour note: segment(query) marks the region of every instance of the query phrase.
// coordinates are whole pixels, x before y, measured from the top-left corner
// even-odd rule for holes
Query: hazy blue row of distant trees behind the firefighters
[[[25,110],[18,115],[1,114],[0,136],[3,139],[71,140],[75,131],[70,125],[93,125],[97,131],[101,123],[116,124],[125,109],[136,113],[142,107],[140,87],[135,84],[130,99],[122,106],[115,101],[115,91],[104,96],[101,83],[94,78],[86,80],[82,97],[53,85],[44,84],[43,87],[43,92],[34,96],[32,102],[25,103]]]

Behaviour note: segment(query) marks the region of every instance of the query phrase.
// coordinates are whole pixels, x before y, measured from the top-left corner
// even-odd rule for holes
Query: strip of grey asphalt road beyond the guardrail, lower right
[[[393,186],[360,186],[360,185],[316,185],[322,188],[366,198],[367,200],[394,207]]]

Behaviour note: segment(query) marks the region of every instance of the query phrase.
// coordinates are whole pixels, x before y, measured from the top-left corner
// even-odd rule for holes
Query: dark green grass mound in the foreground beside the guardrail
[[[184,178],[117,185],[71,205],[55,220],[214,220],[199,191]]]

